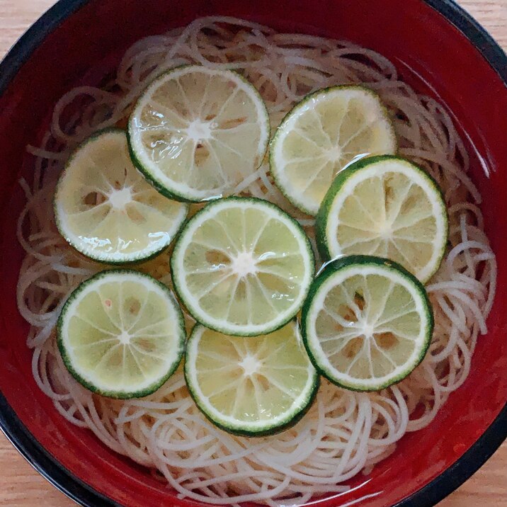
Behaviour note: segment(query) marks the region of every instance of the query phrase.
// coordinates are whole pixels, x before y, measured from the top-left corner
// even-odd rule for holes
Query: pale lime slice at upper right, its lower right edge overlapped
[[[379,96],[362,86],[334,86],[311,93],[285,116],[271,142],[271,173],[293,205],[317,215],[334,177],[349,162],[396,149]]]

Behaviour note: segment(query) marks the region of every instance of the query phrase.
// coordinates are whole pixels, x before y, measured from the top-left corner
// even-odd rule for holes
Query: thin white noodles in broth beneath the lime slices
[[[181,369],[145,399],[115,401],[91,394],[64,368],[55,347],[59,311],[69,292],[103,266],[80,256],[59,236],[51,204],[55,181],[77,143],[100,128],[125,126],[149,81],[187,63],[244,74],[266,101],[273,128],[315,89],[364,83],[380,94],[393,118],[399,154],[438,181],[450,215],[448,251],[427,287],[435,312],[433,341],[423,363],[405,380],[371,394],[324,381],[314,406],[295,427],[272,438],[241,438],[220,431],[200,414]],[[150,467],[181,497],[274,506],[346,491],[348,479],[370,472],[406,432],[431,423],[450,393],[465,382],[479,334],[486,332],[496,283],[481,196],[469,179],[469,156],[448,112],[400,81],[382,55],[349,42],[275,33],[238,19],[201,18],[136,42],[101,89],[69,91],[55,106],[40,147],[28,150],[35,156],[35,169],[32,183],[22,181],[28,202],[18,223],[26,251],[18,306],[31,326],[27,343],[33,349],[35,380],[62,416],[89,428],[115,452]],[[280,205],[312,237],[312,217],[295,210],[273,186],[266,161],[236,193]],[[170,284],[168,255],[140,268]]]

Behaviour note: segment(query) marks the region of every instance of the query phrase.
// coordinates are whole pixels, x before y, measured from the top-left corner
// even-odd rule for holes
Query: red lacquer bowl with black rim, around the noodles
[[[0,425],[55,486],[86,506],[195,506],[76,428],[36,386],[28,326],[16,309],[23,252],[16,181],[25,146],[38,138],[57,98],[113,65],[135,40],[222,14],[285,31],[358,42],[391,59],[406,81],[438,96],[469,135],[486,231],[499,261],[489,334],[480,338],[465,384],[431,426],[406,435],[397,452],[319,506],[430,506],[474,473],[507,435],[507,58],[450,0],[61,0],[0,65]],[[91,79],[91,78],[86,78]],[[89,84],[96,84],[89,82]],[[474,149],[472,149],[472,146]],[[482,157],[493,169],[486,178]]]

